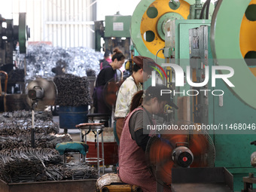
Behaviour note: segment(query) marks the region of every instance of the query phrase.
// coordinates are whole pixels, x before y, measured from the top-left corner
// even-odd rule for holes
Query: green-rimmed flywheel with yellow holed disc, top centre
[[[209,18],[214,6],[209,4]],[[197,19],[203,5],[198,0],[142,0],[133,12],[131,38],[142,56],[148,56],[163,63],[163,48],[166,47],[166,31],[172,20]],[[202,18],[206,15],[203,14]],[[193,22],[192,22],[193,23]],[[200,23],[200,22],[199,22]]]

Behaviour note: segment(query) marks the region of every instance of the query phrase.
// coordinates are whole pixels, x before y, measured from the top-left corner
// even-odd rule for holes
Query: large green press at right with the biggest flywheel
[[[255,84],[256,76],[256,44],[251,30],[245,33],[246,29],[254,29],[253,33],[256,28],[251,22],[254,17],[250,20],[251,12],[255,11],[250,5],[254,3],[219,1],[212,23],[209,20],[173,20],[167,29],[174,30],[165,39],[165,51],[169,50],[164,56],[172,58],[170,62],[178,64],[184,71],[184,87],[175,87],[178,94],[174,98],[178,106],[187,105],[188,108],[175,114],[175,119],[221,127],[220,130],[208,130],[215,144],[215,166],[224,166],[233,174],[235,191],[242,190],[244,176],[255,172],[250,164],[255,147],[250,142],[255,140],[252,84]],[[231,20],[230,16],[227,17],[230,8],[236,10]],[[252,58],[251,61],[248,58]],[[187,66],[190,66],[191,80],[196,83],[205,81],[206,67],[209,67],[208,84],[203,87],[187,84]],[[235,87],[228,86],[222,79],[216,79],[216,86],[212,87],[212,66],[232,68],[234,75],[229,80]],[[225,75],[228,71],[218,70],[216,73]]]

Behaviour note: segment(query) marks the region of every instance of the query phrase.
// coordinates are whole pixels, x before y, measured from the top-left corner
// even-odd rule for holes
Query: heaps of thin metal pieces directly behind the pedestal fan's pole
[[[31,146],[30,111],[14,111],[0,114],[0,150]],[[59,126],[49,114],[35,115],[35,146],[55,148],[59,142],[71,142],[67,135],[58,135]]]

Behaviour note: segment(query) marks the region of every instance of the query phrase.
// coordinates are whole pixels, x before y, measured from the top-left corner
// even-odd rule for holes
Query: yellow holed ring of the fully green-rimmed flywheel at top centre
[[[172,13],[180,14],[185,20],[187,20],[187,17],[190,14],[190,4],[187,2],[184,2],[184,0],[180,0],[179,2],[180,2],[180,7],[176,10],[172,10],[169,7],[169,0],[156,0],[149,6],[149,8],[151,7],[157,8],[157,11],[158,11],[157,17],[154,17],[154,18],[148,17],[147,11],[145,12],[145,14],[143,14],[141,28],[140,28],[142,39],[145,43],[145,46],[154,55],[157,54],[158,50],[165,47],[165,41],[163,41],[160,38],[160,35],[158,35],[157,33],[157,22],[160,19],[160,17],[162,17],[164,14],[172,12]],[[151,41],[151,42],[145,41],[144,34],[147,31],[154,32],[154,35],[155,35],[154,41]],[[158,53],[157,56],[163,59],[165,58],[161,51],[160,53]]]

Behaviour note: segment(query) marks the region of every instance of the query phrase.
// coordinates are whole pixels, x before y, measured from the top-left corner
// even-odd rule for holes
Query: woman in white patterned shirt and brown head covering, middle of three
[[[130,103],[133,95],[142,90],[142,83],[148,80],[154,66],[154,60],[145,56],[135,56],[133,58],[133,75],[126,78],[120,86],[117,94],[114,117],[116,118],[116,132],[118,140],[123,130],[123,120],[130,110]],[[117,141],[118,143],[118,141]]]

